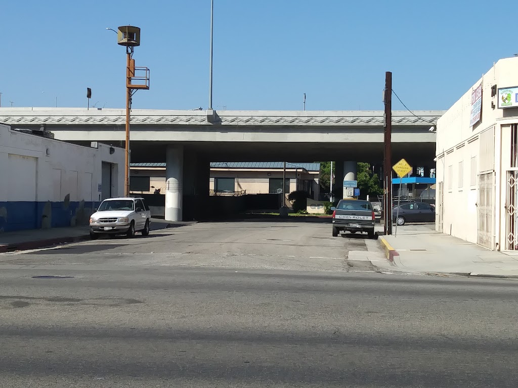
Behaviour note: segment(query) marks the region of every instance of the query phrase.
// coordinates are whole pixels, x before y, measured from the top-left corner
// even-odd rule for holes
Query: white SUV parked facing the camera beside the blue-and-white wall
[[[147,236],[150,222],[151,212],[143,198],[105,199],[90,216],[90,237],[92,240],[103,234],[133,237],[136,231]]]

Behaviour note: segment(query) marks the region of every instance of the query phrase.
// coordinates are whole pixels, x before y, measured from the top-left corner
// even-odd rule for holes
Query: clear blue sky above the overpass
[[[307,110],[383,109],[385,71],[410,109],[448,109],[518,52],[515,1],[214,3],[215,109],[298,110],[304,93]],[[151,69],[133,108],[206,109],[210,0],[3,2],[2,106],[83,107],[91,87],[92,105],[124,107],[125,52],[105,29],[124,24]]]

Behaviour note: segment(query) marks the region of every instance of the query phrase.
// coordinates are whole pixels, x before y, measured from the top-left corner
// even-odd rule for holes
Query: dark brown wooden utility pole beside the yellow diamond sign
[[[392,72],[385,72],[383,149],[384,234],[392,234]]]

